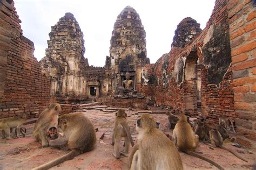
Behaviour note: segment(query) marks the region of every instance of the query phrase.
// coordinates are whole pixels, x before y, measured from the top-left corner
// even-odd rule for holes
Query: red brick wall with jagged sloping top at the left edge
[[[33,42],[22,35],[14,4],[0,1],[0,118],[41,112],[50,100],[50,80],[41,75]]]

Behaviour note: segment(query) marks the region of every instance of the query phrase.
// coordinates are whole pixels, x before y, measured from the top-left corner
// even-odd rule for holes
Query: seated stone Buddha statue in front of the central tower
[[[137,90],[134,90],[134,84],[133,81],[130,80],[130,74],[128,72],[126,72],[125,78],[126,80],[122,82],[122,86],[117,88],[114,98],[144,98],[141,93],[138,93]]]

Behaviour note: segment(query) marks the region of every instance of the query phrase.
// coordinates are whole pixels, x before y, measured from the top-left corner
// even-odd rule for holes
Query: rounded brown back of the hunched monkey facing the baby
[[[66,129],[70,135],[68,141],[70,150],[79,148],[81,152],[87,152],[95,148],[97,141],[95,128],[82,112],[66,114],[62,118],[69,119],[70,122]]]

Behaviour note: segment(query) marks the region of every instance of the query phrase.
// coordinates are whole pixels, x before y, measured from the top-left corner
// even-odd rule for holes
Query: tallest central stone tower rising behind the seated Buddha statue
[[[117,16],[110,40],[110,56],[106,57],[108,91],[114,91],[129,72],[136,88],[140,68],[150,63],[146,56],[146,32],[136,10],[126,6]]]

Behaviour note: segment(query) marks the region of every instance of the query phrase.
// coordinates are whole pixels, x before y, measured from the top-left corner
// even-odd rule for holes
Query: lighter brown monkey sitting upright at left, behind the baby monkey
[[[37,141],[42,143],[41,147],[48,147],[48,132],[52,127],[57,129],[59,112],[61,111],[60,104],[52,103],[49,108],[45,109],[36,121],[33,130],[33,136]]]

